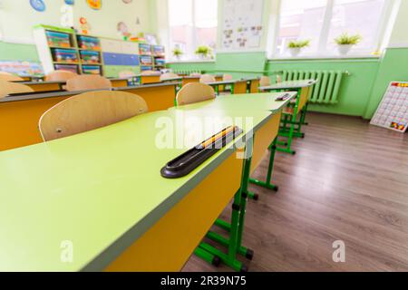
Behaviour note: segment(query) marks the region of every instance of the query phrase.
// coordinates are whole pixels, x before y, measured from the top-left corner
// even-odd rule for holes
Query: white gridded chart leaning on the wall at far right
[[[408,82],[391,82],[372,125],[405,132],[408,128]]]

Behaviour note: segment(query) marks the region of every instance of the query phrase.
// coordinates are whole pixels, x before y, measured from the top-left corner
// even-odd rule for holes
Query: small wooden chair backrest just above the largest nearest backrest
[[[101,75],[78,75],[66,82],[66,91],[111,90],[112,82]]]

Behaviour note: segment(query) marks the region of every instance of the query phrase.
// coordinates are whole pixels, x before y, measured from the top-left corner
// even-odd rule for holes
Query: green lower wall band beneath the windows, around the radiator
[[[339,102],[336,105],[311,105],[311,111],[334,114],[364,116],[371,98],[380,60],[342,59],[342,60],[285,60],[267,61],[265,53],[222,53],[215,63],[171,63],[175,70],[200,70],[207,73],[230,73],[235,78],[270,74],[284,70],[319,71],[335,70],[351,73],[345,76],[340,88]]]

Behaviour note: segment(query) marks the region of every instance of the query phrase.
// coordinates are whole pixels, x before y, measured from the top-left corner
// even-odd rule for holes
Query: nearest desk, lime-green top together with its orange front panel
[[[231,99],[228,111],[186,113],[201,124],[209,111],[214,118],[250,116],[247,129],[258,132],[274,116],[261,107]],[[197,131],[180,123],[177,111],[156,111],[0,152],[7,180],[0,183],[0,271],[179,271],[241,186],[243,160],[234,145],[247,133],[189,176],[163,179],[161,167],[190,147],[158,149],[160,120],[187,135]],[[231,124],[213,123],[216,131]],[[64,263],[71,246],[73,260]]]

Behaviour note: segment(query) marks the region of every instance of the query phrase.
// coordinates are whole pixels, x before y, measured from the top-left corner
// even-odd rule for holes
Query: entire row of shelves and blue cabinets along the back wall
[[[76,34],[48,25],[34,27],[34,40],[45,74],[63,69],[116,78],[122,72],[160,71],[166,65],[160,45]]]

